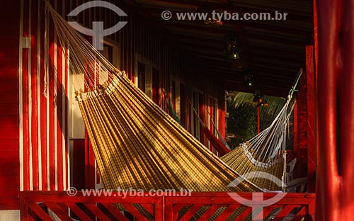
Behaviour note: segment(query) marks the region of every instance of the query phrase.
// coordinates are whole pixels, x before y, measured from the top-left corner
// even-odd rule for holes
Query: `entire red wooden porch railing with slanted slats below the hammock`
[[[254,193],[237,193],[251,200]],[[261,200],[277,193],[262,193]],[[253,198],[254,199],[254,198]],[[24,220],[314,220],[315,195],[286,193],[263,208],[261,201],[246,206],[229,193],[203,192],[190,196],[68,196],[66,191],[21,192],[21,221]],[[258,203],[258,204],[257,204]],[[125,210],[129,212],[122,212]],[[252,216],[252,211],[255,211]]]

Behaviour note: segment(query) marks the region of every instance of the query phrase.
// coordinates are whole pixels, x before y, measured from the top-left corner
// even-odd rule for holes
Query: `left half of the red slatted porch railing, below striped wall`
[[[103,194],[102,194],[103,195]],[[147,220],[142,213],[153,216],[155,220],[164,220],[164,198],[159,196],[126,196],[113,192],[111,196],[83,196],[78,191],[76,196],[69,196],[67,191],[25,191],[21,192],[21,221],[24,220],[52,220],[47,209],[49,208],[61,220],[72,220],[68,209],[80,218],[91,220],[128,220],[116,205],[123,206],[137,220]],[[134,204],[144,208],[138,210]]]

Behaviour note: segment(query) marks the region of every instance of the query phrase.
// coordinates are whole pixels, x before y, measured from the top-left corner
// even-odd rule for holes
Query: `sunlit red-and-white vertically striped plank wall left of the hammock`
[[[30,38],[30,48],[23,49],[20,55],[20,190],[66,190],[69,186],[67,52],[58,46],[50,23],[45,27],[45,1],[21,2],[20,28]],[[64,13],[64,4],[54,1],[53,6]],[[45,56],[49,57],[47,65]]]

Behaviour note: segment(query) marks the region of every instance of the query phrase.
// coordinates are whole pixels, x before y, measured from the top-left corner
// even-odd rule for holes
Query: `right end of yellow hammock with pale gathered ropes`
[[[285,105],[268,128],[260,132],[251,140],[241,143],[221,159],[240,174],[253,172],[255,178],[250,179],[256,186],[275,190],[274,182],[261,179],[263,172],[272,174],[269,179],[278,178],[282,181],[282,191],[286,185],[286,140],[290,115],[295,106],[292,96],[296,90],[302,69],[299,70],[292,89],[290,90]],[[242,165],[242,166],[240,166]]]

